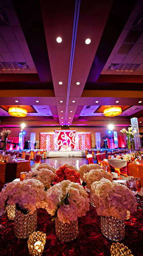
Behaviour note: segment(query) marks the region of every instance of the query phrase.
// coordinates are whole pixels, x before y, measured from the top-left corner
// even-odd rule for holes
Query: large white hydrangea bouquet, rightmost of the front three
[[[125,220],[127,210],[131,213],[137,210],[135,196],[129,188],[105,178],[91,184],[92,200],[98,215],[112,216]]]

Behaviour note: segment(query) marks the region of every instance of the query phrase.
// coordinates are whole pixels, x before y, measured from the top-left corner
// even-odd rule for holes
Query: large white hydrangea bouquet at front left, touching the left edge
[[[24,214],[33,214],[36,208],[45,208],[44,184],[35,179],[8,183],[0,193],[0,211],[4,211],[7,204],[16,205],[16,209]]]

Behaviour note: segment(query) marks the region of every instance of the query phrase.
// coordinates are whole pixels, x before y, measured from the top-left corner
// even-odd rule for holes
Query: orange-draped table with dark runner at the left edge
[[[31,171],[31,167],[28,160],[17,160],[12,163],[0,162],[0,190],[4,187],[4,184],[20,178],[20,172],[29,171]]]

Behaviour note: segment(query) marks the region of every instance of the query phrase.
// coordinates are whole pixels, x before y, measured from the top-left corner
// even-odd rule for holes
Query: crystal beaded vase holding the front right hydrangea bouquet
[[[125,222],[112,216],[101,216],[101,232],[112,241],[120,241],[125,236]]]

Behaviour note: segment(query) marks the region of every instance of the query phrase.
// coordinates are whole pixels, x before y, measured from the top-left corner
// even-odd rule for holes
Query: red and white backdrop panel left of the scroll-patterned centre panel
[[[55,132],[40,132],[40,149],[54,151]]]

